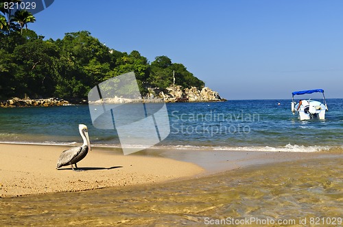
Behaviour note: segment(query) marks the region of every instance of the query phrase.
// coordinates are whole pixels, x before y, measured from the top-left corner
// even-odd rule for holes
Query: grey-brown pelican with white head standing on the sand
[[[62,154],[60,155],[60,159],[58,159],[57,162],[57,167],[56,169],[66,166],[66,165],[71,165],[71,169],[75,170],[73,168],[73,164],[75,164],[75,168],[78,168],[78,163],[84,157],[86,157],[88,153],[88,149],[91,149],[91,144],[89,142],[89,137],[88,137],[88,129],[87,126],[84,124],[79,124],[79,131],[82,139],[84,140],[84,144],[82,146],[78,146],[76,148],[70,148],[69,150],[64,150]]]

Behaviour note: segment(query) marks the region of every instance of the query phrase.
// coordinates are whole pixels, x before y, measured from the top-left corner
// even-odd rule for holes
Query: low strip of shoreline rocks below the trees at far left
[[[8,101],[0,102],[0,107],[53,107],[70,105],[68,101],[58,98],[30,99],[12,98]]]

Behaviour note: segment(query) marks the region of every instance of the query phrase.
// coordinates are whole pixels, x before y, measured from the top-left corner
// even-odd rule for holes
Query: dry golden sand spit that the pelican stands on
[[[193,163],[162,157],[113,155],[92,148],[78,163],[56,170],[68,146],[0,144],[0,197],[33,193],[82,191],[102,187],[161,183],[204,172]]]

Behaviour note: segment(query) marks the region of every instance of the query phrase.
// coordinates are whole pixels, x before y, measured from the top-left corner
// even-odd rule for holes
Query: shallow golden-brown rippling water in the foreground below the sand
[[[275,226],[277,220],[292,226],[342,226],[342,204],[343,159],[336,157],[161,185],[1,198],[0,226],[199,226],[224,221],[260,226],[268,220]]]

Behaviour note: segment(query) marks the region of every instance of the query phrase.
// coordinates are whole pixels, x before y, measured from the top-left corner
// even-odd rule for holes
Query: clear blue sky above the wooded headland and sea
[[[35,16],[45,38],[87,30],[150,62],[167,55],[227,99],[343,98],[340,0],[56,0]]]

